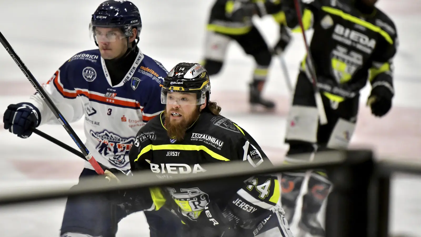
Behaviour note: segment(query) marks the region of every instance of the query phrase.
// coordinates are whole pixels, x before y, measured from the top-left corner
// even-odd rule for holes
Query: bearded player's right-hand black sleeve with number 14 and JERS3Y
[[[253,167],[270,162],[253,137],[244,129],[240,130],[244,137],[237,144],[239,158],[242,157],[243,162],[249,162]],[[255,175],[243,181],[242,188],[234,194],[226,208],[236,217],[239,226],[247,228],[270,215],[279,198],[277,175]]]

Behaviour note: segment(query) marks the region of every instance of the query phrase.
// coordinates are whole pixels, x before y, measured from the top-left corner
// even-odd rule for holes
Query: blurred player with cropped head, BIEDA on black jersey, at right
[[[367,105],[376,117],[392,107],[393,57],[397,51],[397,30],[392,20],[374,4],[376,0],[318,0],[301,4],[311,13],[314,34],[309,46],[314,68],[306,59],[301,64],[287,123],[288,155],[317,150],[343,149],[355,129],[360,90],[367,81],[371,92]],[[296,27],[293,0],[284,2],[288,27]],[[328,123],[320,125],[310,70],[315,70]],[[287,161],[294,162],[292,159]],[[299,162],[299,161],[295,161]],[[325,172],[312,172],[303,198],[299,228],[324,236],[317,221],[331,183]],[[282,175],[282,206],[292,220],[303,173]]]

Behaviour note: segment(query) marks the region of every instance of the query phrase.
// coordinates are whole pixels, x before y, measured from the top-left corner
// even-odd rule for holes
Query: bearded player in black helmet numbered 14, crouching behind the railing
[[[221,108],[209,96],[205,68],[177,64],[164,79],[161,101],[165,111],[137,134],[129,154],[131,170],[151,170],[159,178],[171,178],[206,172],[202,167],[206,163],[243,160],[257,167],[270,162],[244,129],[219,114]],[[291,236],[283,210],[276,205],[280,194],[276,175],[226,183],[230,184],[137,190],[131,204],[136,209],[171,209],[183,221],[185,237]],[[125,192],[125,197],[131,195],[133,192]]]

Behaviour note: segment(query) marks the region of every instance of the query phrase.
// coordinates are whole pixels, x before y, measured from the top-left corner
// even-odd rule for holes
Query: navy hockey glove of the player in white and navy
[[[32,134],[31,127],[38,127],[41,122],[40,111],[31,103],[9,105],[3,115],[4,129],[27,138]]]

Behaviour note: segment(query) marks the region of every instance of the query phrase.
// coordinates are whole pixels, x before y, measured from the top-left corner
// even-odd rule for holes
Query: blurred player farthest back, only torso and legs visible
[[[268,48],[266,41],[254,26],[251,18],[266,14],[280,12],[280,4],[271,1],[254,0],[216,0],[211,11],[207,26],[205,41],[205,59],[203,66],[209,75],[219,73],[224,64],[226,50],[232,40],[237,41],[246,54],[253,56],[256,67],[253,72],[253,80],[249,84],[250,105],[262,105],[264,108],[275,107],[273,101],[262,98],[262,90],[268,75],[268,69],[272,60],[272,50]],[[275,19],[283,21],[282,13],[277,14]],[[281,53],[290,41],[290,37],[282,37],[285,27],[280,24],[281,37],[275,46],[275,52]],[[288,33],[288,32],[287,32]],[[281,51],[279,51],[281,49]]]

